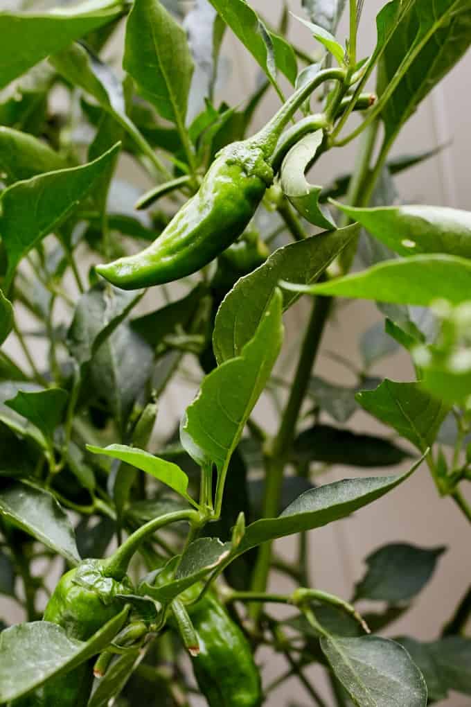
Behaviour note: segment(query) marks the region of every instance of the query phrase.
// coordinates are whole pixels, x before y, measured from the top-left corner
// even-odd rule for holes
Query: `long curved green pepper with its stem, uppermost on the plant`
[[[343,81],[345,71],[320,71],[255,136],[222,148],[198,192],[152,245],[137,255],[97,265],[96,271],[125,290],[164,284],[196,272],[234,243],[273,182],[270,158],[282,129],[327,79]]]

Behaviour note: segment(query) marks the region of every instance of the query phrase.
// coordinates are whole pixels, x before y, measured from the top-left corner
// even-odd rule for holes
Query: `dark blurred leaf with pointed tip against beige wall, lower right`
[[[407,543],[383,545],[366,558],[368,570],[355,585],[354,601],[409,602],[430,581],[445,550]]]

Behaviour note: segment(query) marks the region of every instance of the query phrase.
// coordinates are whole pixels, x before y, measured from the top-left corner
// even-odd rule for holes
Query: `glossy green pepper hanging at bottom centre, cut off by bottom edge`
[[[260,674],[239,626],[213,595],[188,608],[200,647],[193,672],[209,706],[259,707]]]

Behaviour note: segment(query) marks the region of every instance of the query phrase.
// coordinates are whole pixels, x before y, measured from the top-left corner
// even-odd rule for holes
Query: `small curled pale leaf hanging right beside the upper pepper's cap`
[[[290,149],[282,163],[280,186],[306,221],[314,223],[314,226],[319,228],[332,230],[335,229],[335,223],[328,208],[319,204],[323,187],[309,184],[305,177],[323,139],[323,131],[316,130],[299,140]]]

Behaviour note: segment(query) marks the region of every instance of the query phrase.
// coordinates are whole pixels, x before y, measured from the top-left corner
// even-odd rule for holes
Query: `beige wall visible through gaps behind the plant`
[[[364,56],[374,47],[374,18],[383,4],[382,0],[365,2],[359,32],[360,52]],[[251,5],[273,25],[278,23],[282,11],[281,0],[253,0]],[[302,14],[301,0],[290,0],[289,6],[293,13]],[[343,21],[338,30],[338,37],[343,40],[346,35],[347,29]],[[290,23],[290,38],[306,51],[312,51],[313,40],[309,30],[294,19]],[[226,34],[223,52],[230,61],[226,64],[227,74],[222,81],[222,98],[227,98],[229,103],[234,105],[237,101],[244,100],[247,92],[254,86],[258,67],[230,32]],[[470,76],[471,54],[468,54],[441,86],[424,101],[398,139],[395,154],[427,150],[453,139],[451,146],[439,156],[413,168],[398,179],[400,197],[404,201],[471,208]],[[270,95],[258,111],[258,124],[266,122],[276,107],[277,99]],[[317,168],[316,177],[320,180],[318,183],[328,182],[334,175],[350,169],[355,147],[350,145],[341,151],[331,151]],[[123,177],[133,178],[130,167],[126,166]],[[292,336],[287,336],[287,341],[294,341],[292,337],[299,332],[305,321],[307,306],[308,303],[302,301],[292,310],[288,322],[288,330]],[[342,306],[326,331],[323,351],[336,351],[360,367],[358,336],[376,320],[379,320],[379,317],[373,306],[363,303]],[[21,356],[17,349],[15,353]],[[285,346],[280,362],[284,375],[295,358],[294,354],[292,344]],[[412,380],[410,363],[402,355],[388,359],[374,372],[397,380]],[[334,363],[326,354],[319,357],[316,373],[333,382],[352,382],[352,374],[345,367]],[[194,392],[194,387],[190,385],[178,385],[169,390],[161,406],[160,431],[170,428],[172,421],[180,418]],[[257,414],[261,421],[273,426],[275,416],[269,402],[262,400],[258,405]],[[381,426],[362,413],[354,417],[352,426],[358,431],[381,430]],[[382,431],[384,432],[384,429]],[[371,474],[376,473],[374,469],[370,471]],[[377,472],[383,473],[381,469]],[[355,474],[357,472],[352,469],[338,467],[323,477],[323,480],[327,482]],[[354,582],[359,580],[364,572],[364,557],[381,544],[395,541],[412,542],[424,547],[445,544],[448,551],[440,561],[439,571],[412,610],[403,619],[396,621],[388,631],[389,636],[408,633],[424,640],[432,639],[437,636],[441,624],[451,615],[453,607],[470,584],[470,537],[467,522],[451,501],[438,498],[427,469],[421,468],[405,486],[401,486],[381,501],[361,510],[352,518],[311,533],[311,584],[350,598]],[[282,554],[292,556],[294,545],[288,539],[280,542],[278,549]],[[273,577],[273,587],[275,586],[278,590],[289,590],[285,580],[276,575]],[[20,620],[13,602],[8,600],[0,600],[0,615],[2,614],[10,621]],[[261,661],[265,666],[264,675],[267,682],[286,667],[281,658],[273,658],[272,655],[261,654]],[[316,684],[320,686],[329,703],[328,689],[323,685],[317,669],[309,672],[316,678]],[[288,705],[292,699],[297,699],[300,705],[310,704],[309,696],[304,693],[303,688],[296,682],[289,681],[268,700],[267,706],[281,707]],[[470,699],[456,695],[441,704],[444,707],[469,707],[470,703]],[[203,703],[196,700],[194,704],[197,706]]]

